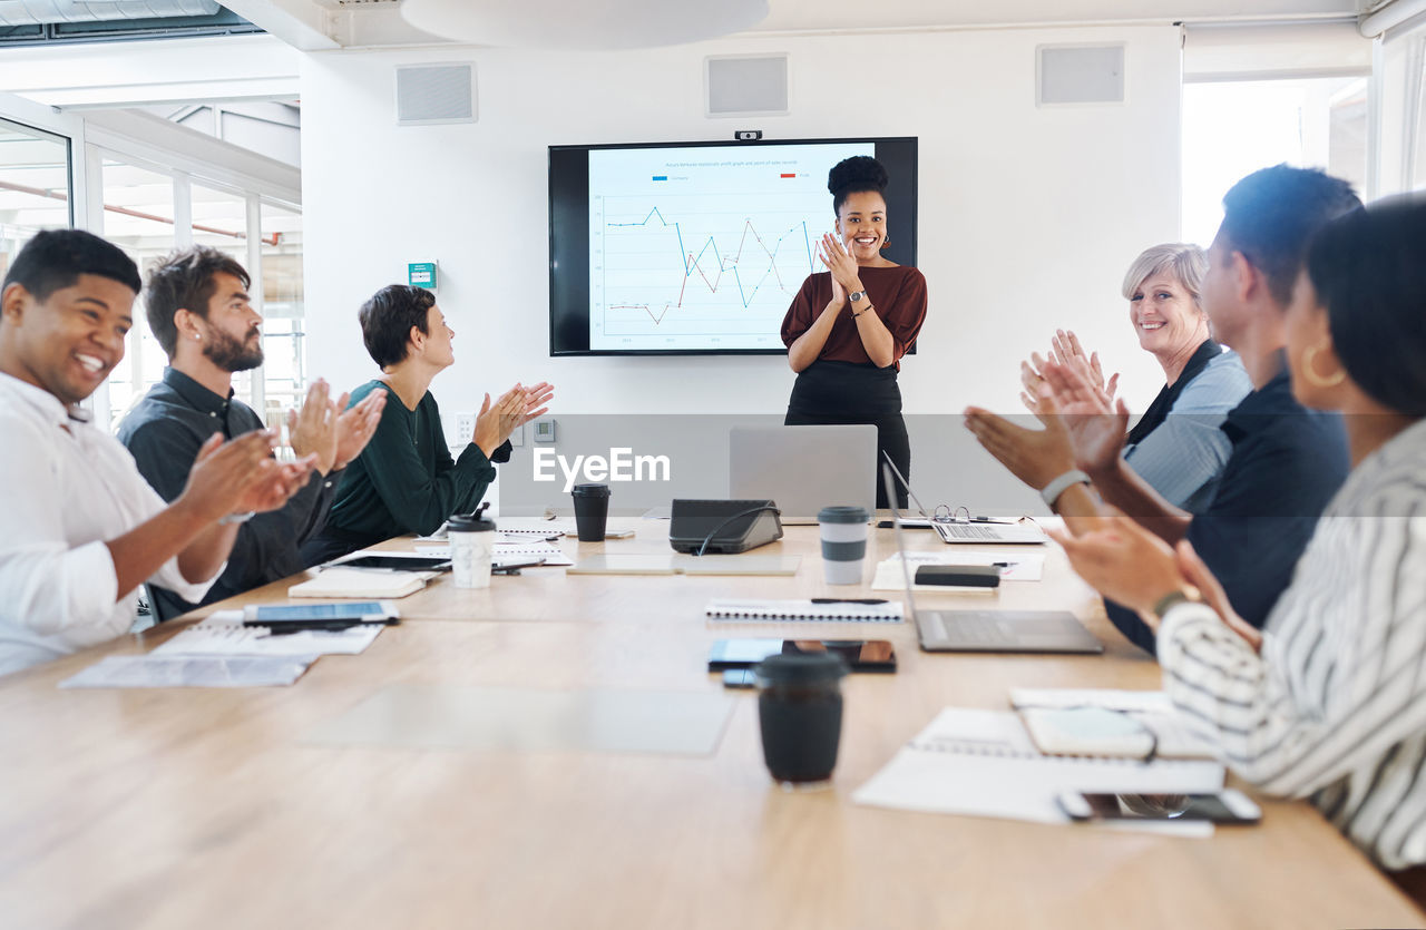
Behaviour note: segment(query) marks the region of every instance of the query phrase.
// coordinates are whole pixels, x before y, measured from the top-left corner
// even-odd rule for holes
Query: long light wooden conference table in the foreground
[[[619,521],[612,521],[617,525]],[[666,552],[667,523],[578,555]],[[401,545],[401,543],[396,543]],[[913,533],[915,548],[940,543]],[[894,552],[876,531],[871,558]],[[703,619],[712,596],[848,595],[821,582],[816,528],[759,555],[796,578],[566,576],[489,591],[442,578],[359,656],[292,688],[58,690],[175,625],[0,680],[4,927],[1383,927],[1422,914],[1306,803],[1211,840],[863,807],[850,793],[947,705],[1011,686],[1152,689],[1156,666],[1050,548],[1042,582],[928,605],[1074,609],[1104,656],[921,653],[914,630]],[[279,582],[227,606],[281,601]],[[870,589],[864,589],[870,595]],[[896,596],[896,595],[890,595]],[[722,693],[729,635],[884,636],[900,672],[844,682],[830,790],[767,776],[756,698],[710,756],[312,745],[394,685]]]

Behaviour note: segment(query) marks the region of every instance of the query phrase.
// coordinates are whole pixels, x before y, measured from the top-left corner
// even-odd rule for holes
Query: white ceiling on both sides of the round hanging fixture
[[[478,4],[479,0],[468,0]],[[666,0],[693,3],[706,0]],[[716,1],[716,0],[714,0]],[[1386,0],[769,0],[743,34],[974,29],[1068,23],[1175,23],[1348,19]],[[583,0],[529,0],[532,17]],[[224,6],[298,48],[438,44],[408,26],[398,0],[224,0]]]

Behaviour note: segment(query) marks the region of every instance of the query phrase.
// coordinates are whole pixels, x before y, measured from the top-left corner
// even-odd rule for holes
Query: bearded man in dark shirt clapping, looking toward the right
[[[204,245],[168,255],[148,274],[148,327],[168,355],[168,368],[124,417],[118,439],[165,501],[183,492],[198,448],[210,435],[235,436],[264,425],[251,407],[232,397],[234,372],[262,364],[262,317],[248,300],[250,284],[242,265]],[[327,521],[337,485],[334,472],[371,439],[384,399],[384,394],[372,395],[347,409],[347,395],[334,402],[327,382],[314,382],[302,408],[288,412],[292,451],[317,456],[307,486],[284,508],[258,513],[238,529],[227,569],[201,602],[151,585],[155,618],[167,620],[301,571],[298,548]]]

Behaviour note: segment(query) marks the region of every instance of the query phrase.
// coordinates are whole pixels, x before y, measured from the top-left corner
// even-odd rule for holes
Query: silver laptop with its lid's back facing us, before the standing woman
[[[830,505],[876,513],[876,426],[734,426],[727,448],[729,496],[776,501],[783,525]]]

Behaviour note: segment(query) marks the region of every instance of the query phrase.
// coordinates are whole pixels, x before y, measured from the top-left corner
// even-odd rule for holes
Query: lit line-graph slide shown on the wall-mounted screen
[[[833,227],[829,168],[870,141],[590,151],[589,348],[784,351]]]

